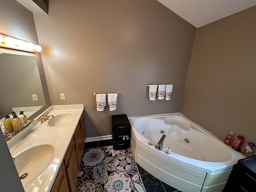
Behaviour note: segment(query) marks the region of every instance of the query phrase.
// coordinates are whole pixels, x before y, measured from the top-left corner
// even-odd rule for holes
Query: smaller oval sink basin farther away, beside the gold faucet
[[[54,118],[50,118],[48,120],[48,125],[52,127],[60,127],[68,124],[70,121],[74,119],[74,114],[72,113],[62,113],[54,116]]]

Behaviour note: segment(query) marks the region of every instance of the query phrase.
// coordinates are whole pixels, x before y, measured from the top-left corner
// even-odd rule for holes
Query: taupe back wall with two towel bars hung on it
[[[111,134],[112,114],[179,112],[196,28],[160,2],[54,0],[34,20],[50,102],[84,104],[87,137]],[[145,84],[170,83],[170,101],[148,99]],[[120,92],[117,110],[96,111],[94,92]]]

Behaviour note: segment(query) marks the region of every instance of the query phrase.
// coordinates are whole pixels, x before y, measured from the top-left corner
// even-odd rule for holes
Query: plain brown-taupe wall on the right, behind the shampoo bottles
[[[256,6],[196,30],[181,112],[222,140],[254,142]],[[244,145],[241,147],[244,150]]]

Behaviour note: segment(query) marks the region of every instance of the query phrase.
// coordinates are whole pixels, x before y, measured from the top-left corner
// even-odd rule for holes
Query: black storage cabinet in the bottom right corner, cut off
[[[256,192],[256,155],[238,160],[223,192]]]

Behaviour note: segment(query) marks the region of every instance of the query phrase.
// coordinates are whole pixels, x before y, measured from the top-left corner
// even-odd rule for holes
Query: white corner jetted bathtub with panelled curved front
[[[245,158],[180,113],[129,117],[129,121],[135,161],[183,192],[221,192],[234,164]],[[163,148],[157,150],[163,134]],[[170,154],[165,153],[166,147],[171,149]]]

